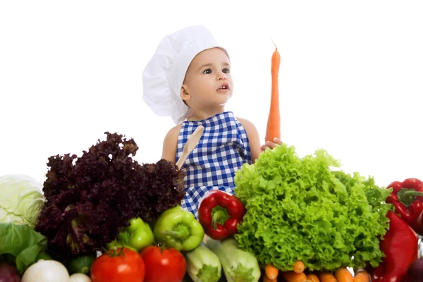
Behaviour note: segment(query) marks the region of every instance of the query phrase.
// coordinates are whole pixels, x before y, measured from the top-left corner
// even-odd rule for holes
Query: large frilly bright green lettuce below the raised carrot
[[[239,247],[281,270],[298,260],[311,271],[377,266],[391,190],[331,169],[339,166],[324,149],[301,159],[287,145],[245,164],[235,174],[235,194],[247,209],[235,235]]]

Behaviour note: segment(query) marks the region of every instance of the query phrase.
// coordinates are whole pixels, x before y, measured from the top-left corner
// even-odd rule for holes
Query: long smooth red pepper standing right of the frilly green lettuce
[[[403,282],[408,267],[417,259],[417,235],[396,213],[389,211],[386,217],[389,230],[380,243],[384,262],[371,272],[372,282]]]

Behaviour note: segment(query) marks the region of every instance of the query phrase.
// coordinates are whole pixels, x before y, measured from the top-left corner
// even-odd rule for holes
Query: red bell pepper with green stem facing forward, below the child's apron
[[[215,190],[202,200],[198,220],[210,238],[223,240],[238,232],[244,214],[245,207],[238,197]]]

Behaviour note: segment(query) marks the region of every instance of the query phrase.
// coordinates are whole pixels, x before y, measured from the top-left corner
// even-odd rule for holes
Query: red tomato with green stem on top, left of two
[[[127,247],[109,250],[91,266],[92,282],[142,282],[145,278],[145,265],[140,254]]]

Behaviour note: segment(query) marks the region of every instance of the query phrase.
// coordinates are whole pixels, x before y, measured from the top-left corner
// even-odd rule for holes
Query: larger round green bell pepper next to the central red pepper
[[[154,225],[154,238],[179,251],[194,250],[204,238],[204,229],[194,215],[180,206],[164,211]]]

